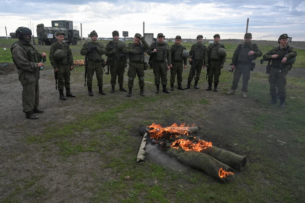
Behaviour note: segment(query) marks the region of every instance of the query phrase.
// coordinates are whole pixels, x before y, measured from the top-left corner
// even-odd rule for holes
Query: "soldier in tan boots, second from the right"
[[[259,50],[255,43],[251,42],[252,34],[246,33],[244,36],[244,42],[239,44],[235,49],[232,57],[231,69],[234,71],[232,87],[228,95],[233,95],[237,89],[239,79],[243,74],[243,98],[247,98],[248,81],[250,80],[251,62],[257,57],[261,57],[263,53]]]

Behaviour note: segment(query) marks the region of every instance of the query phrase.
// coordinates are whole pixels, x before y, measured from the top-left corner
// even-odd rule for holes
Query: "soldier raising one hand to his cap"
[[[142,42],[142,43],[141,43]],[[144,94],[144,65],[146,66],[146,62],[144,62],[144,52],[149,49],[149,45],[144,40],[144,37],[141,34],[136,33],[133,38],[133,43],[129,43],[123,49],[123,53],[133,54],[129,56],[129,68],[128,68],[128,88],[129,92],[127,94],[128,97],[131,96],[133,90],[133,81],[136,75],[139,78],[139,86],[140,86],[140,94],[141,96],[145,96]],[[139,53],[142,52],[142,53]]]

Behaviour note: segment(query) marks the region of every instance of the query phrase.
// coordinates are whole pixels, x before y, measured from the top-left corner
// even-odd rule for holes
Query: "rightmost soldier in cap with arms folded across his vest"
[[[287,34],[279,36],[279,46],[274,47],[263,55],[264,60],[272,60],[269,74],[270,95],[272,100],[268,103],[275,104],[277,102],[276,95],[278,94],[280,98],[280,107],[285,107],[286,75],[292,67],[290,61],[297,56],[296,51],[287,44],[288,38]]]

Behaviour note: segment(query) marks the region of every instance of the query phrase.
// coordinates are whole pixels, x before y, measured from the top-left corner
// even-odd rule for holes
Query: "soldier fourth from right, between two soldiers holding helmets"
[[[199,89],[197,84],[200,78],[201,69],[205,67],[204,56],[205,56],[205,51],[207,49],[207,47],[204,44],[202,44],[202,38],[203,38],[202,35],[198,35],[196,37],[197,43],[192,45],[191,50],[189,52],[188,61],[191,64],[191,69],[188,74],[188,84],[185,87],[185,89],[189,89],[191,87],[191,82],[194,76],[195,76],[194,88]]]

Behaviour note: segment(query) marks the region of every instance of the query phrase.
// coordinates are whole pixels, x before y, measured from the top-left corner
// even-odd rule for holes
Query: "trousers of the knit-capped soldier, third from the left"
[[[103,87],[103,67],[102,67],[102,62],[94,62],[88,60],[88,67],[87,67],[87,86],[92,87],[92,80],[93,80],[93,75],[95,75],[97,78],[97,86],[98,87]]]

